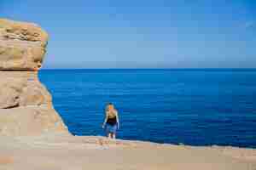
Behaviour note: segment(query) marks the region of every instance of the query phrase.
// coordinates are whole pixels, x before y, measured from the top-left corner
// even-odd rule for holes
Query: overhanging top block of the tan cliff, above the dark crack
[[[39,68],[47,39],[47,33],[37,25],[0,19],[0,69]]]

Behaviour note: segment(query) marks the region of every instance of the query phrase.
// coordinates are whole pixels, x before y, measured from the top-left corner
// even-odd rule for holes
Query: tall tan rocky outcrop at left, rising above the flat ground
[[[39,26],[0,19],[0,135],[68,133],[38,80],[47,40]]]

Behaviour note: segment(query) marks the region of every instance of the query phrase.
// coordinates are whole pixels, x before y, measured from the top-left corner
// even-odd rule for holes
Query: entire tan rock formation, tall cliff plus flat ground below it
[[[256,170],[255,149],[71,137],[38,80],[47,40],[0,19],[0,169]]]

